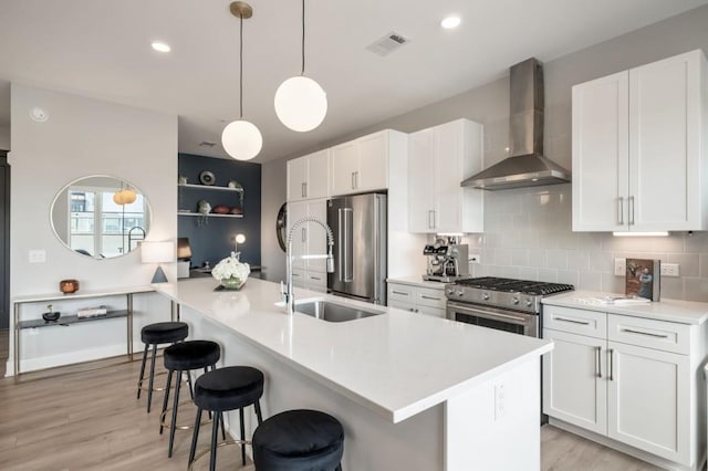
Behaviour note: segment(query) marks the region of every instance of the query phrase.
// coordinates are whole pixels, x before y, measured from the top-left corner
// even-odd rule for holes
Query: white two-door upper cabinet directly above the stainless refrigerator
[[[395,132],[382,130],[331,148],[332,195],[388,188],[392,133]]]

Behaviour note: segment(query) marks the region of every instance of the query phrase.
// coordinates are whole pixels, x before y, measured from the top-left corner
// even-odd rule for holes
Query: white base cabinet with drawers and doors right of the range
[[[555,344],[543,357],[545,414],[690,469],[699,464],[702,326],[549,305],[543,322],[543,337]]]

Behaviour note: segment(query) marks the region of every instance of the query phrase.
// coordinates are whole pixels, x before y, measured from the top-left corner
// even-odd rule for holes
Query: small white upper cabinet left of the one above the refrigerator
[[[288,161],[288,201],[330,196],[330,150]]]

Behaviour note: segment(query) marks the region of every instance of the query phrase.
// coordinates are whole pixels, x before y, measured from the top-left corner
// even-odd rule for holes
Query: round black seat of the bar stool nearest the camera
[[[287,410],[253,432],[253,463],[259,471],[341,470],[344,428],[329,414]]]

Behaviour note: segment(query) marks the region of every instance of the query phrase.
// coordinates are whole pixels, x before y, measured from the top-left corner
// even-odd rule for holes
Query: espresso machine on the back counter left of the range
[[[466,243],[459,243],[456,237],[436,239],[434,243],[425,245],[423,254],[428,257],[423,280],[449,283],[470,278],[469,248]]]

